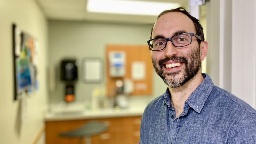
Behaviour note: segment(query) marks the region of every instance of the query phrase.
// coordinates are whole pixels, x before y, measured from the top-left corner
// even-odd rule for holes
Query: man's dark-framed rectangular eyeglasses
[[[163,50],[168,41],[171,41],[175,47],[183,47],[191,44],[192,37],[195,36],[197,39],[202,40],[202,38],[194,33],[182,33],[171,38],[154,38],[148,41],[149,49],[152,51],[160,51]]]

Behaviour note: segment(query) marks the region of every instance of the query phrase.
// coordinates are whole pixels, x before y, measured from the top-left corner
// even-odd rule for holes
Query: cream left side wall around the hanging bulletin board
[[[27,96],[27,123],[20,122],[20,100],[13,96],[12,23],[39,40],[38,92]],[[43,111],[47,104],[46,65],[48,24],[35,0],[0,1],[0,143],[32,144],[44,126]],[[39,141],[40,144],[44,140]]]

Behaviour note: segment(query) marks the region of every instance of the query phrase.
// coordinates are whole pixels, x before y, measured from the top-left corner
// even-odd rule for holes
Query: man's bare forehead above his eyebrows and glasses
[[[181,12],[169,12],[162,15],[153,27],[152,38],[156,35],[173,36],[177,31],[196,33],[193,21]]]

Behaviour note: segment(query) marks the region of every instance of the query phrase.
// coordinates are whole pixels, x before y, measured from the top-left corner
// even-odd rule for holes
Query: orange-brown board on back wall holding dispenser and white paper
[[[126,53],[126,75],[123,78],[114,78],[109,76],[109,55],[111,51]],[[153,65],[151,60],[151,52],[148,45],[107,45],[106,48],[106,66],[107,66],[107,96],[116,95],[116,80],[129,78],[134,83],[134,92],[131,96],[136,95],[152,95],[152,73]],[[146,64],[146,76],[144,80],[132,79],[132,63],[143,61]]]

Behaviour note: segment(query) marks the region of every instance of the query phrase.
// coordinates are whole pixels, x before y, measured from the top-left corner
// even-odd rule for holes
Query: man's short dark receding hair
[[[202,38],[202,40],[197,39],[198,44],[201,43],[201,41],[204,41],[204,32],[203,32],[203,27],[201,26],[201,24],[199,23],[199,20],[196,19],[195,17],[191,16],[190,13],[188,11],[186,11],[185,7],[179,7],[176,9],[171,9],[171,10],[165,10],[163,12],[161,12],[158,17],[157,20],[164,14],[169,13],[169,12],[181,12],[183,14],[185,14],[186,16],[188,16],[194,23],[194,26],[196,28],[196,35],[200,36]],[[154,26],[153,26],[154,27]],[[153,32],[153,28],[151,29],[151,36],[150,39],[152,39],[152,32]]]

